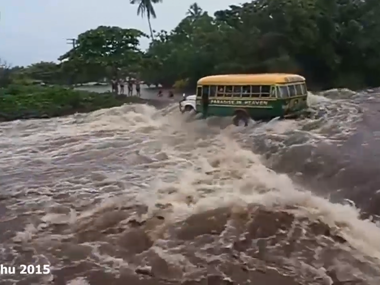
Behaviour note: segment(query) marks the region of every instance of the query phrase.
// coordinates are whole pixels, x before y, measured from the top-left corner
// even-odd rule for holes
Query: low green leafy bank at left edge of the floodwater
[[[117,96],[63,87],[9,85],[0,89],[0,121],[52,118],[87,113],[125,103],[146,103],[138,97]]]

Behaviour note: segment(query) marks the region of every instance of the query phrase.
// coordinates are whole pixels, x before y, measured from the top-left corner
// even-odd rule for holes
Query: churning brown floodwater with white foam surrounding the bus
[[[1,264],[51,269],[0,283],[378,285],[376,95],[347,94],[249,128],[177,104],[0,124]]]

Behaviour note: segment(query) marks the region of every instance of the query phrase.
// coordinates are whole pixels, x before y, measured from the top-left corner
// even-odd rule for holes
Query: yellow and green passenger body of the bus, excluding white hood
[[[307,109],[305,78],[297,74],[224,74],[198,80],[196,112],[233,116],[235,125],[290,117]]]

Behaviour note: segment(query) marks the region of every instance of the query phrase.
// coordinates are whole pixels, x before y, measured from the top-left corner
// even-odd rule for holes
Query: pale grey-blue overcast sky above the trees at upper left
[[[171,30],[185,16],[194,0],[163,0],[155,5],[155,30]],[[226,9],[234,0],[199,0],[211,15]],[[0,0],[0,58],[11,65],[56,61],[70,46],[66,38],[99,25],[136,28],[146,33],[146,18],[136,15],[129,0]],[[141,42],[142,48],[148,41]]]

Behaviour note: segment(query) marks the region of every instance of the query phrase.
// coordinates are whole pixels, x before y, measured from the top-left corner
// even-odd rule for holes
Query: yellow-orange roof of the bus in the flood
[[[305,77],[297,74],[287,73],[263,73],[263,74],[222,74],[202,77],[198,80],[198,85],[218,85],[223,84],[264,84],[290,83],[305,81]]]

